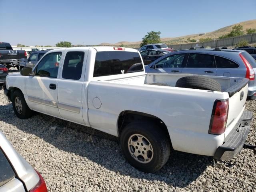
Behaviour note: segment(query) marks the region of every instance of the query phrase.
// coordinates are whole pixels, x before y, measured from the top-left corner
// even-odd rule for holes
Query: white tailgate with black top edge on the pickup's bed
[[[248,93],[248,82],[249,80],[244,78],[225,91],[228,92],[230,97],[226,130],[233,128],[233,126],[230,125],[233,124],[233,122],[236,124],[244,111],[244,104]]]

